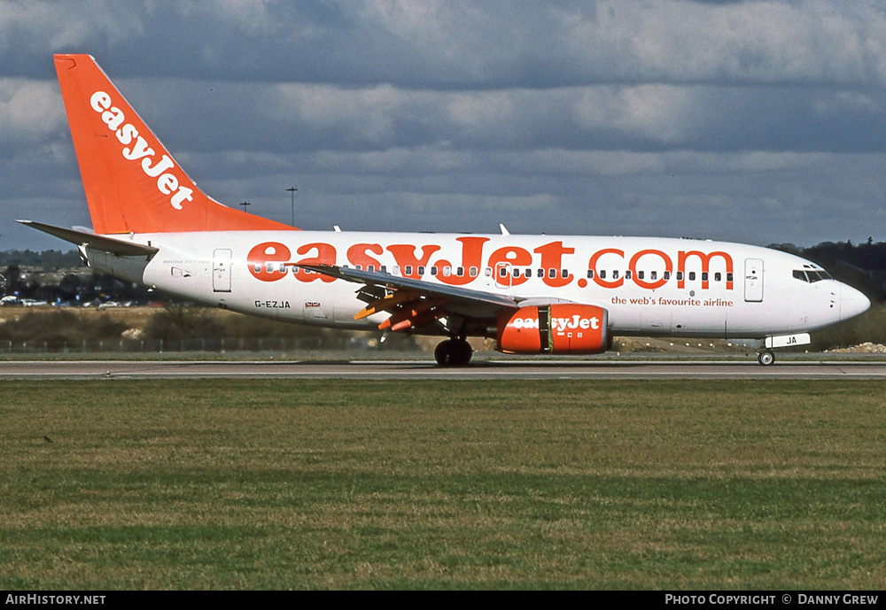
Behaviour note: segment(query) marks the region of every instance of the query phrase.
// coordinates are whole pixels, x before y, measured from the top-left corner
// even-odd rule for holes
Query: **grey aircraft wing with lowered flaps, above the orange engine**
[[[346,282],[362,284],[358,298],[367,303],[354,320],[373,313],[387,312],[391,317],[378,325],[385,330],[408,330],[430,324],[441,318],[494,318],[501,310],[519,308],[520,297],[507,297],[482,290],[470,290],[437,282],[424,282],[408,277],[345,268],[338,265],[299,265],[318,274]]]

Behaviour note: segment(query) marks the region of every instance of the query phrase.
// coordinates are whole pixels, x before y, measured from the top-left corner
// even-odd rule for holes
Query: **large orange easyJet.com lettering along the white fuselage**
[[[654,248],[631,255],[618,248],[602,248],[590,255],[587,264],[582,263],[578,267],[581,274],[587,269],[586,279],[577,278],[569,271],[570,268],[573,271],[577,269],[574,265],[575,248],[564,245],[562,241],[544,243],[532,251],[505,245],[487,254],[489,241],[489,237],[483,236],[456,237],[461,256],[451,260],[448,256],[435,257],[442,250],[437,243],[422,246],[411,243],[391,243],[386,246],[381,243],[354,243],[348,246],[346,260],[342,262],[338,261],[338,251],[331,243],[302,243],[296,248],[296,256],[293,256],[284,243],[263,242],[249,251],[247,264],[249,273],[262,282],[277,282],[288,276],[299,282],[335,282],[334,277],[301,269],[299,265],[341,264],[368,271],[386,271],[416,280],[430,275],[437,282],[450,286],[469,285],[484,277],[499,285],[517,287],[532,277],[550,288],[562,288],[573,282],[579,288],[586,288],[588,283],[594,282],[601,288],[617,289],[626,282],[633,282],[644,290],[656,290],[674,280],[677,288],[683,289],[687,279],[690,282],[695,279],[696,271],[701,277],[701,289],[709,290],[713,266],[718,276],[726,277],[726,290],[734,290],[733,259],[726,251],[681,250],[672,257]],[[644,274],[644,269],[655,271]],[[610,273],[611,270],[617,271],[607,277],[606,270],[610,270]]]

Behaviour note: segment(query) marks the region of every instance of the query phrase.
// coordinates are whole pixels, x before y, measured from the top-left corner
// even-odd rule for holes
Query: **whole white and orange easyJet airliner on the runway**
[[[303,231],[201,191],[94,58],[56,55],[93,230],[21,220],[89,266],[177,297],[324,327],[470,336],[505,353],[588,354],[613,336],[754,338],[773,348],[867,310],[859,290],[790,254],[660,237]]]

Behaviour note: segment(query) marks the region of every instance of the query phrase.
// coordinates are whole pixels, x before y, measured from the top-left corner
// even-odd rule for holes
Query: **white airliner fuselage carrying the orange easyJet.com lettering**
[[[90,264],[179,297],[278,320],[371,330],[358,284],[308,273],[330,264],[609,311],[612,335],[755,337],[823,328],[869,302],[819,266],[740,243],[584,237],[222,231],[131,236],[149,261],[89,250]],[[826,279],[820,279],[825,277]]]

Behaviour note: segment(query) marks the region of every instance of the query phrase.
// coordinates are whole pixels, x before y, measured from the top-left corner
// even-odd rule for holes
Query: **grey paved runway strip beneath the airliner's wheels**
[[[761,367],[749,360],[488,359],[441,368],[430,359],[351,361],[0,362],[5,379],[886,379],[886,362],[799,360]]]

